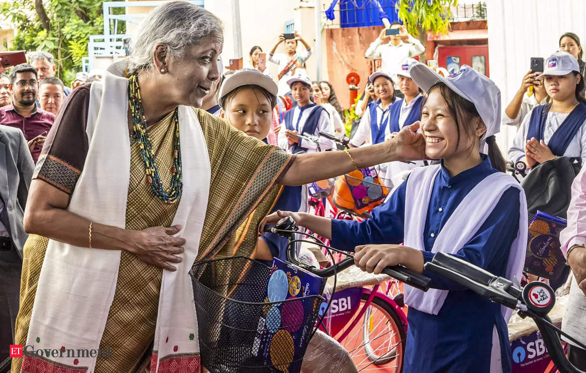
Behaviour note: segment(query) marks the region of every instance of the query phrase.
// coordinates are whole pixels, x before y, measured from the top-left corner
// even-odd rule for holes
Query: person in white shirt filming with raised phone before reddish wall
[[[380,58],[381,70],[390,72],[395,77],[405,58],[418,56],[424,51],[423,44],[407,32],[407,27],[393,22],[388,29],[381,30],[379,37],[370,43],[364,56],[375,60]],[[393,80],[397,81],[395,78]],[[395,90],[398,91],[398,86]]]

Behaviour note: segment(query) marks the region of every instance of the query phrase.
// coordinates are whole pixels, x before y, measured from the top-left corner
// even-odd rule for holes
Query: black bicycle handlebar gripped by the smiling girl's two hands
[[[272,232],[280,234],[281,236],[286,236],[289,238],[289,243],[294,241],[301,241],[301,240],[294,240],[293,234],[297,233],[297,225],[295,225],[295,220],[292,219],[291,216],[286,216],[282,218],[274,227],[265,227],[265,232]],[[311,235],[310,235],[311,236]],[[324,246],[320,243],[316,243],[319,246]],[[349,258],[342,260],[338,263],[334,263],[331,267],[324,268],[323,270],[318,270],[312,266],[306,265],[301,263],[297,260],[297,248],[294,245],[289,244],[287,248],[287,260],[291,263],[297,265],[298,267],[304,268],[306,271],[311,272],[312,274],[318,275],[319,277],[331,277],[336,272],[340,272],[345,270],[348,267],[351,267],[354,264],[354,258],[350,254],[346,254]],[[423,291],[428,291],[430,288],[430,281],[431,279],[419,274],[415,271],[411,271],[408,268],[403,267],[402,265],[394,265],[392,267],[386,267],[383,270],[383,273],[389,275],[397,279],[398,281],[403,282],[404,284],[413,286],[414,288],[421,289]]]

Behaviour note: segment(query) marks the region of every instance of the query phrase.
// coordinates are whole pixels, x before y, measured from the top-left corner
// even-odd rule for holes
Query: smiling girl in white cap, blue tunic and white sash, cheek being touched
[[[504,163],[493,141],[500,127],[500,91],[468,65],[447,78],[424,64],[415,64],[410,74],[427,91],[421,112],[425,153],[441,164],[415,168],[361,223],[288,212],[266,222],[291,215],[331,239],[333,247],[356,251],[362,270],[378,274],[401,264],[432,279],[425,293],[406,286],[404,373],[510,372],[510,312],[424,271],[424,263],[442,251],[495,275],[520,278],[527,207],[519,183],[494,168]],[[481,154],[485,140],[490,157]]]

